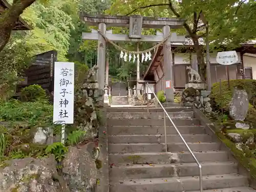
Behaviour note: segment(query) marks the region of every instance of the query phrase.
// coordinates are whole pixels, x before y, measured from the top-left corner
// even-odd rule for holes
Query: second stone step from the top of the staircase
[[[168,112],[170,118],[192,119],[194,112]],[[163,112],[111,112],[106,114],[108,119],[164,119]],[[169,121],[166,117],[166,121]]]

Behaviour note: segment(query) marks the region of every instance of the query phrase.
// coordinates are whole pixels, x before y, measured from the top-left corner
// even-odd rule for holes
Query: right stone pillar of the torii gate
[[[167,37],[170,34],[170,26],[164,26],[162,31],[164,38]],[[163,44],[163,62],[166,102],[174,102],[172,52],[170,41],[168,40]],[[166,88],[167,81],[170,81],[170,88]]]

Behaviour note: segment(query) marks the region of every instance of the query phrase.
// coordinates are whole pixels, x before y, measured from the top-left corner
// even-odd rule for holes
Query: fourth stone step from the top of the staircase
[[[204,134],[204,126],[178,126],[181,134]],[[164,134],[164,126],[109,126],[109,135],[158,135]],[[166,134],[177,134],[174,126],[166,126]]]

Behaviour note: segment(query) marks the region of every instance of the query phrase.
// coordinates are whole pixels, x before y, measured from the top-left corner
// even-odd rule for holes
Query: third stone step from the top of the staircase
[[[200,125],[198,119],[173,119],[176,126]],[[164,125],[163,119],[108,119],[108,126],[160,126]],[[173,125],[166,119],[166,125]]]

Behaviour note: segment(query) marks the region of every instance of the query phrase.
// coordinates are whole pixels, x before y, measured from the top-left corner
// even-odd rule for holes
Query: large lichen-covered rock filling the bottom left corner
[[[61,192],[59,182],[54,180],[58,174],[53,155],[43,159],[14,159],[3,165],[0,166],[1,192]]]

